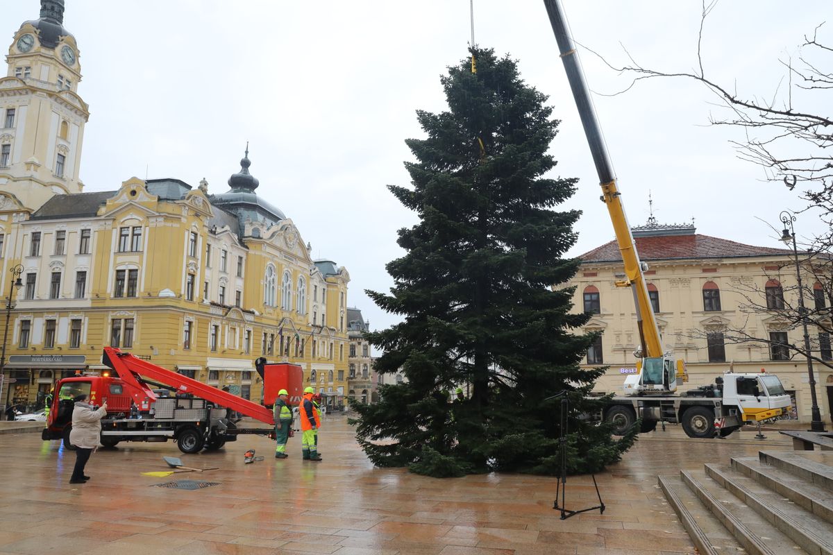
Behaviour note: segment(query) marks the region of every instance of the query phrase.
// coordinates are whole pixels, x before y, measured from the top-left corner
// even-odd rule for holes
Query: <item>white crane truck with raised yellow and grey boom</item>
[[[560,0],[544,0],[544,5],[596,165],[601,201],[607,206],[625,265],[625,279],[616,281],[616,286],[630,287],[636,304],[636,327],[641,344],[634,352],[638,359],[637,374],[628,376],[625,395],[613,397],[606,405],[602,418],[611,422],[614,434],[618,435],[624,434],[637,419],[641,419],[641,432],[653,431],[657,422],[663,421],[682,424],[690,438],[713,438],[716,435],[725,437],[743,424],[784,414],[791,408],[790,396],[777,376],[763,372],[734,374],[730,370],[718,377],[716,384],[683,395],[675,394],[677,385],[687,379],[686,364],[682,360],[675,361],[671,353],[662,348],[645,280],[647,265],[639,260],[636,252],[621,192],[616,186],[616,176],[567,27],[564,9]]]

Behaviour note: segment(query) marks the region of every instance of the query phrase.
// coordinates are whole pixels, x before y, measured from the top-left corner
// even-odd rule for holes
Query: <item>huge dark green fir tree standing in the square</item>
[[[375,369],[407,382],[353,405],[357,439],[373,463],[431,476],[556,473],[560,400],[547,398],[567,390],[569,470],[595,472],[633,435],[578,418],[598,409],[584,394],[603,370],[579,368],[589,316],[570,314],[573,289],[559,287],[580,262],[562,258],[580,212],[554,207],[577,180],[543,177],[558,127],[546,96],[509,57],[471,56],[441,77],[448,111],[417,111],[426,138],[407,140],[412,188],[389,186],[420,222],[399,231],[391,294],[367,292],[402,323],[367,338],[384,352]]]

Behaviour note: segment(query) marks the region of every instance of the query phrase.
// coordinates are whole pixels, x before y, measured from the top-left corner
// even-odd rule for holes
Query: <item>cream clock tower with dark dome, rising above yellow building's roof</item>
[[[41,0],[23,22],[0,78],[0,210],[35,211],[55,195],[80,193],[78,178],[89,107],[77,94],[81,65],[63,27],[64,0]]]

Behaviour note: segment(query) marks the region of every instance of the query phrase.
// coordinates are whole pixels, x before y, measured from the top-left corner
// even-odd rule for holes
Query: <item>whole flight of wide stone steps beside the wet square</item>
[[[833,452],[761,451],[659,485],[698,553],[833,555]]]

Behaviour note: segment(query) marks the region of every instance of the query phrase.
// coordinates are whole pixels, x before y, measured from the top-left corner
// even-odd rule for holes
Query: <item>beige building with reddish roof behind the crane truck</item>
[[[796,416],[811,420],[811,394],[806,359],[790,359],[778,344],[731,341],[730,329],[742,329],[754,337],[800,343],[801,327],[789,327],[777,310],[755,312],[747,297],[777,309],[785,291],[796,286],[792,250],[742,245],[735,241],[700,235],[693,225],[657,225],[649,222],[632,230],[640,258],[648,265],[651,305],[662,342],[678,359],[686,361],[690,376],[683,390],[713,383],[716,376],[736,372],[777,374],[796,399]],[[597,382],[599,391],[622,393],[627,374],[636,373],[633,356],[640,339],[636,330],[634,300],[630,288],[617,288],[622,261],[616,241],[581,255],[581,268],[572,280],[576,286],[574,310],[592,314],[586,331],[601,331],[588,351],[586,368],[610,368]],[[803,277],[812,284],[810,275]],[[793,305],[796,300],[789,300]],[[807,302],[824,302],[809,299]],[[783,300],[780,301],[783,305]],[[831,359],[827,334],[811,330],[819,356]],[[727,337],[730,339],[727,340]],[[833,404],[833,372],[814,366],[816,394],[822,419],[830,423]]]

